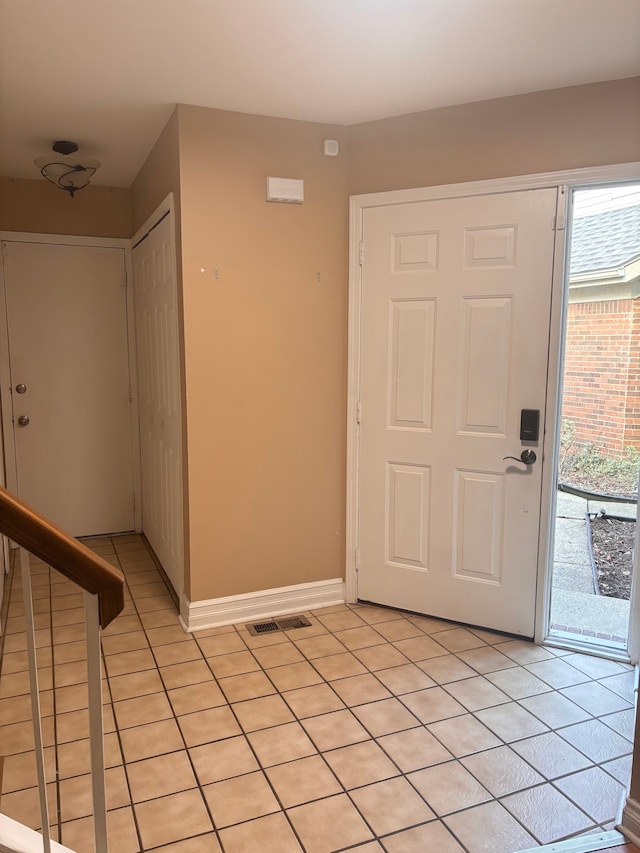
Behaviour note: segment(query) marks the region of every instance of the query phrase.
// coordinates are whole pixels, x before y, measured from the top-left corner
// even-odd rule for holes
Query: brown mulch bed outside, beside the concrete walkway
[[[635,521],[590,516],[591,542],[601,595],[629,600],[635,547]]]

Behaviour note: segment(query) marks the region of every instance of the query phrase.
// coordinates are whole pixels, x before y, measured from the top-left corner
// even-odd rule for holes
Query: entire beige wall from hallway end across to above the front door
[[[3,181],[11,230],[130,236],[176,195],[191,600],[344,573],[348,194],[640,159],[639,97],[637,78],[350,128],[180,106],[130,191]],[[267,175],[303,178],[304,204],[267,204]]]

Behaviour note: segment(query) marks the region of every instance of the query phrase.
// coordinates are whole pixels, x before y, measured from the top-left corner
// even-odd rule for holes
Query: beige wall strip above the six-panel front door
[[[351,194],[640,160],[640,77],[349,128]]]

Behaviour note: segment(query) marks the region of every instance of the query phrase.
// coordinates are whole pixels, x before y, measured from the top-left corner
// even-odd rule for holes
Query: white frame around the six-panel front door
[[[421,187],[407,190],[367,193],[349,199],[349,324],[347,354],[347,484],[346,484],[346,555],[345,598],[350,603],[358,600],[358,469],[359,469],[359,400],[360,400],[360,344],[362,325],[362,265],[364,211],[372,207],[464,198],[465,196],[494,195],[543,188],[560,188],[559,197],[566,206],[566,187],[588,187],[600,183],[623,183],[640,178],[640,162],[611,166],[594,166],[584,169],[519,175],[460,184]],[[554,507],[553,483],[555,472],[555,443],[559,409],[561,330],[564,321],[564,279],[566,259],[566,232],[564,207],[559,206],[553,279],[551,282],[551,323],[549,330],[549,362],[547,370],[547,402],[542,443],[543,458],[550,464],[543,468],[542,501],[540,507],[540,538],[538,548],[538,583],[535,602],[535,642],[541,643],[549,630],[551,595],[550,550],[551,513]],[[637,589],[640,584],[634,585]],[[636,620],[640,622],[640,619]],[[634,635],[640,633],[635,626]],[[629,647],[636,649],[637,637],[629,638]]]

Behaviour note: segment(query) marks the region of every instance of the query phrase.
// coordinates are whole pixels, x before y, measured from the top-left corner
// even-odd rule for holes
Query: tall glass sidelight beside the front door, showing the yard
[[[549,638],[624,656],[640,462],[640,185],[574,190]]]

